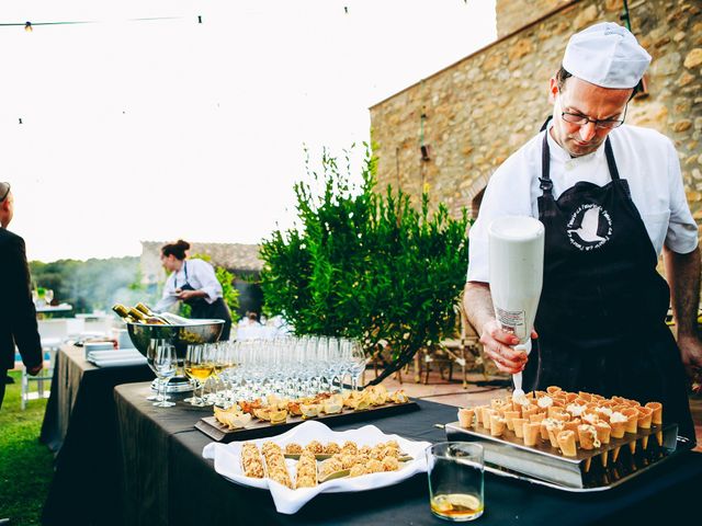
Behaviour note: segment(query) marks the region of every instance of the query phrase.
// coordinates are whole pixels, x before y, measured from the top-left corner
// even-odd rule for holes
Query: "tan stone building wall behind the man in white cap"
[[[678,149],[694,218],[702,219],[702,2],[630,0],[633,33],[653,57],[647,93],[630,124],[655,128]],[[622,0],[497,0],[498,39],[371,107],[380,187],[475,217],[492,172],[539,132],[552,111],[548,79],[570,35],[621,23]]]

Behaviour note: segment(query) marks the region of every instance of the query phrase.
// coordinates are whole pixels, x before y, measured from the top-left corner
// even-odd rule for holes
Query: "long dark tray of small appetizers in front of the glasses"
[[[404,391],[388,393],[383,386],[372,386],[343,396],[239,401],[228,410],[215,409],[215,414],[201,419],[195,428],[215,442],[229,443],[278,435],[306,420],[351,423],[417,410],[419,405]]]

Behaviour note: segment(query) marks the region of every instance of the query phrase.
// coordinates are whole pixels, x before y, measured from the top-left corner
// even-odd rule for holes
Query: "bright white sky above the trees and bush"
[[[292,225],[304,144],[367,141],[369,106],[496,37],[495,0],[101,3],[0,9],[101,21],[0,27],[0,181],[31,260],[259,242]],[[150,16],[181,19],[127,22]]]

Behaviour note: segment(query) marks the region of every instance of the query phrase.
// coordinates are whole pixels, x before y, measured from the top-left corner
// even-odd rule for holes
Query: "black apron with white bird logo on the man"
[[[604,152],[612,181],[578,182],[556,201],[547,134],[539,197],[544,282],[524,390],[561,386],[659,401],[664,419],[694,441],[680,352],[665,324],[670,290],[610,139]]]

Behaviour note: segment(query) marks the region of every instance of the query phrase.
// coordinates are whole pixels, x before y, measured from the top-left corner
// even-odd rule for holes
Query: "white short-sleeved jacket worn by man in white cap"
[[[500,165],[490,179],[477,220],[469,231],[468,282],[489,282],[487,228],[496,217],[524,215],[539,218],[536,198],[541,178],[542,132]],[[648,128],[623,125],[609,134],[621,179],[629,182],[656,254],[664,243],[687,254],[698,245],[698,226],[686,199],[680,162],[672,142]],[[554,198],[588,181],[600,186],[611,181],[604,144],[595,152],[571,158],[548,134]]]

